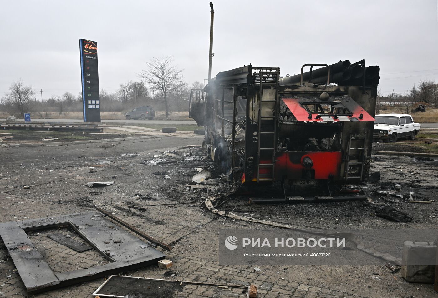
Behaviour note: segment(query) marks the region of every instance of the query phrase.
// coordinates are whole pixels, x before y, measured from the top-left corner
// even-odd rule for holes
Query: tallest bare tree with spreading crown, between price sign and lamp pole
[[[166,118],[169,118],[169,102],[168,96],[172,91],[182,83],[183,70],[177,69],[173,65],[171,56],[161,58],[153,58],[146,62],[147,70],[142,70],[138,76],[141,80],[149,86],[152,91],[158,91],[164,100],[164,107],[166,109]]]

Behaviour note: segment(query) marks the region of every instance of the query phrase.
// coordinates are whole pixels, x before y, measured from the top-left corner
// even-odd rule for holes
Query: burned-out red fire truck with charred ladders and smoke
[[[237,185],[356,183],[369,175],[379,78],[364,60],[286,77],[247,65],[192,90],[189,116]]]

